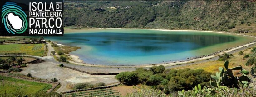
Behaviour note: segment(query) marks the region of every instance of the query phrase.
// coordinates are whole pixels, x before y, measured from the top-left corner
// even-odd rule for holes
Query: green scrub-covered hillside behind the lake
[[[253,0],[64,2],[66,27],[229,31],[256,24],[256,2]]]

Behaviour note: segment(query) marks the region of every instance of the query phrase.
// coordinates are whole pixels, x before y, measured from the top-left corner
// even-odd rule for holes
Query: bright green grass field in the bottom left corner
[[[47,91],[52,88],[52,85],[39,82],[31,82],[12,77],[4,77],[4,87],[2,83],[2,76],[0,77],[0,94],[14,93],[16,90],[24,90],[26,93],[35,93],[37,91]]]

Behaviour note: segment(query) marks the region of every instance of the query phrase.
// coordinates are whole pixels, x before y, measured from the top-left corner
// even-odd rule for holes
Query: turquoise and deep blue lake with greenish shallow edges
[[[208,55],[254,40],[241,35],[202,31],[150,29],[65,30],[63,37],[45,37],[63,45],[79,46],[71,55],[87,64],[143,65],[170,63]]]

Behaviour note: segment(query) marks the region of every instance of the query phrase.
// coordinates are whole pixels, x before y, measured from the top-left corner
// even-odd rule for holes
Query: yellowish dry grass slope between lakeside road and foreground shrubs
[[[243,51],[244,51],[244,55],[251,53],[251,49],[246,49]],[[232,56],[229,59],[229,68],[232,68],[235,66],[242,66],[244,69],[250,70],[251,66],[245,66],[245,63],[247,62],[247,60],[249,60],[249,58],[243,58],[244,55],[238,55],[238,53],[239,52],[234,53],[234,56]],[[193,65],[189,65],[189,66],[181,66],[181,67],[177,67],[174,69],[184,69],[184,68],[204,69],[205,71],[208,71],[210,73],[215,73],[217,71],[219,72],[219,69],[218,69],[219,67],[224,68],[224,61],[217,61],[217,60],[209,61],[209,62],[193,64]],[[237,70],[237,72],[239,72],[239,70]]]

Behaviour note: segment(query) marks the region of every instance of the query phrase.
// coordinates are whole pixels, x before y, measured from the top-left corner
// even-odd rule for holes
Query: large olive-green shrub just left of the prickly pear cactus
[[[170,74],[170,76],[168,76]],[[166,85],[167,93],[177,90],[190,90],[195,85],[208,86],[211,79],[210,73],[203,69],[192,70],[189,68],[179,69],[168,73],[167,77],[170,78],[169,83]]]

